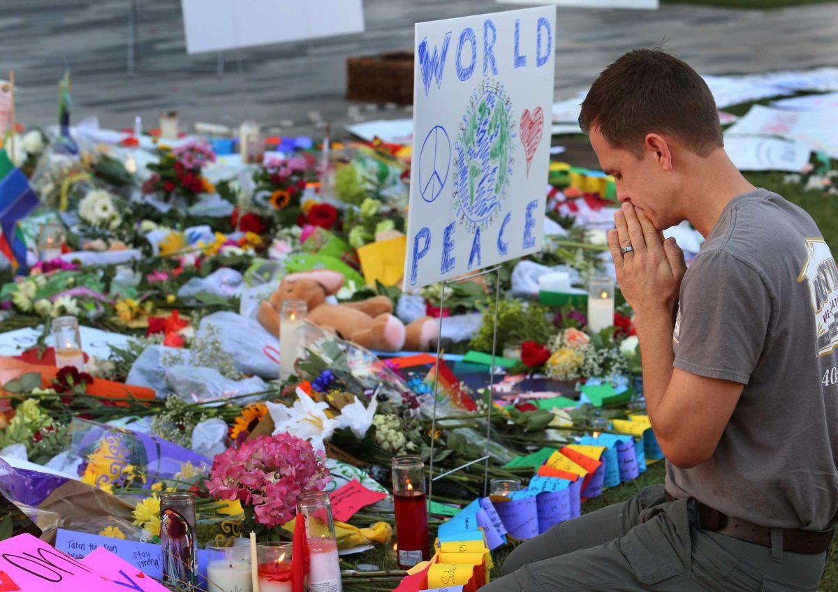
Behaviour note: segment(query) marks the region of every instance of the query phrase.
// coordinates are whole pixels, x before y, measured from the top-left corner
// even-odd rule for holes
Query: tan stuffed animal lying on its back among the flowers
[[[343,339],[367,349],[382,352],[427,352],[437,336],[437,323],[432,317],[405,324],[394,317],[393,303],[387,296],[365,301],[328,304],[343,286],[344,276],[337,271],[315,270],[287,275],[270,298],[261,302],[256,318],[273,335],[279,335],[280,311],[286,300],[303,300],[308,304],[309,322],[337,333]]]

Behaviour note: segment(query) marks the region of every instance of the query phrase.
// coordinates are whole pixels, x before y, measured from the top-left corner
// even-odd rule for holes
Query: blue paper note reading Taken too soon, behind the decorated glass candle
[[[83,559],[97,548],[104,547],[117,557],[125,559],[144,574],[154,579],[163,578],[160,567],[160,545],[137,543],[122,538],[102,537],[98,534],[78,533],[75,530],[59,528],[55,536],[55,548],[64,551],[70,557]],[[198,585],[206,589],[207,564],[209,551],[198,549]]]

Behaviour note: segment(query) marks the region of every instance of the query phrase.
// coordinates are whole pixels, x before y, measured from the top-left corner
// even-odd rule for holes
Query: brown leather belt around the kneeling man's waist
[[[674,502],[678,499],[666,492],[666,501]],[[726,534],[747,543],[771,547],[771,528],[759,526],[742,518],[727,516],[718,510],[696,500],[699,525],[704,530],[713,533]],[[783,550],[789,553],[804,553],[815,555],[825,552],[832,540],[832,529],[825,531],[800,530],[799,528],[781,528],[783,533]]]

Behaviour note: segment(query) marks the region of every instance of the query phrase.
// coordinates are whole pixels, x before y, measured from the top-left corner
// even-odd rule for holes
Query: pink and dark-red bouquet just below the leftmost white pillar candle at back
[[[215,187],[201,174],[215,152],[204,142],[187,142],[171,149],[158,147],[160,162],[149,164],[153,175],[142,183],[142,193],[160,193],[167,200],[173,195],[192,203],[199,193],[214,193]]]

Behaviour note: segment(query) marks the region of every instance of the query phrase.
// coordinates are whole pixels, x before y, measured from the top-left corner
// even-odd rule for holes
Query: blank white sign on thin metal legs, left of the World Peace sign
[[[361,0],[181,0],[188,54],[364,30]]]

